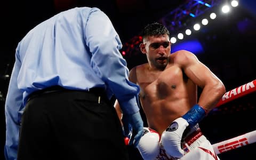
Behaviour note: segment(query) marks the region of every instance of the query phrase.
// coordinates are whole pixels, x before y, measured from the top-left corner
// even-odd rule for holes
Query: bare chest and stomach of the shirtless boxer
[[[162,133],[174,119],[186,114],[197,101],[196,85],[183,77],[177,65],[167,65],[164,71],[155,73],[145,64],[131,70],[133,73],[141,87],[140,101],[148,126],[158,133]]]

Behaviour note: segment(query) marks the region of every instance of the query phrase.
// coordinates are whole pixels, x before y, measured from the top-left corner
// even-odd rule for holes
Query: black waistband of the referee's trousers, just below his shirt
[[[55,86],[47,87],[45,89],[37,90],[31,93],[28,97],[27,102],[38,96],[49,94],[49,93],[55,93],[55,92],[80,92],[87,95],[87,97],[90,98],[90,101],[96,101],[98,103],[100,103],[102,100],[106,102],[109,101],[105,94],[105,90],[100,87],[93,87],[88,91],[86,91],[86,90],[70,90],[70,89],[65,89],[64,87],[61,87],[59,85],[55,85]]]

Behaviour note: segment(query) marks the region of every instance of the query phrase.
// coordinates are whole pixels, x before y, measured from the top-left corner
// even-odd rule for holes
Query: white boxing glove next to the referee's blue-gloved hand
[[[145,160],[155,159],[159,152],[159,134],[148,127],[143,127],[143,135],[138,143],[138,150]]]

